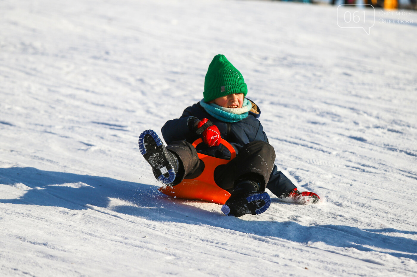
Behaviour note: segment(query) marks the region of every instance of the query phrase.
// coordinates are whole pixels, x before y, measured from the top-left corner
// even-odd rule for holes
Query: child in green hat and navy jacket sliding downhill
[[[289,197],[299,203],[317,203],[319,196],[299,192],[296,186],[274,165],[275,151],[258,117],[261,110],[245,98],[248,89],[242,77],[224,55],[211,61],[204,80],[204,98],[183,111],[179,119],[166,122],[162,136],[144,131],[139,137],[143,157],[152,166],[155,177],[167,185],[201,174],[204,164],[197,152],[230,159],[230,151],[220,145],[224,138],[236,150],[236,158],[214,171],[214,181],[231,193],[221,210],[239,217],[259,214],[270,204],[265,188],[278,197]],[[194,148],[191,143],[202,137],[204,143]]]

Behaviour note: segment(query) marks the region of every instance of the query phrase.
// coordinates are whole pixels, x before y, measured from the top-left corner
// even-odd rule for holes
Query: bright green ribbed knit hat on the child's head
[[[224,55],[214,56],[204,79],[204,102],[234,93],[248,93],[242,74]]]

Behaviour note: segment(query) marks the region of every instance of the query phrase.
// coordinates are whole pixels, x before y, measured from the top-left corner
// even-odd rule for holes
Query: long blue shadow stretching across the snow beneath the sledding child
[[[264,241],[266,237],[304,245],[324,242],[334,247],[386,253],[417,261],[416,240],[385,234],[416,235],[417,232],[393,228],[359,229],[345,225],[304,226],[294,221],[259,221],[226,217],[220,212],[219,205],[174,200],[160,193],[155,185],[99,176],[42,171],[32,167],[0,168],[0,184],[10,185],[10,188],[2,190],[6,193],[0,195],[0,203],[56,206],[75,210],[87,209],[86,205],[90,204],[153,221],[203,224],[234,230],[254,235],[254,239],[260,241]],[[118,199],[118,205],[109,207],[112,198]],[[119,200],[128,203],[124,205],[123,201]],[[198,208],[200,204],[204,209]],[[207,210],[210,207],[212,210]],[[326,247],[320,248],[326,250]],[[334,252],[334,248],[327,251]],[[381,265],[378,261],[364,261]]]

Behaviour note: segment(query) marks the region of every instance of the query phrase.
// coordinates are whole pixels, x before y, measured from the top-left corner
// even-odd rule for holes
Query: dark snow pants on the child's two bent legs
[[[196,178],[203,172],[203,161],[198,159],[196,148],[191,143],[173,141],[166,148],[176,154],[181,164],[173,185],[180,183],[183,179]],[[259,181],[259,190],[264,191],[274,169],[274,161],[274,147],[264,141],[252,141],[241,148],[236,158],[225,165],[216,167],[214,181],[220,188],[233,193],[236,181],[250,176]]]

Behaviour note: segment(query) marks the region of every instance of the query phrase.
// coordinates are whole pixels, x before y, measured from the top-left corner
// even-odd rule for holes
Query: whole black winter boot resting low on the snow
[[[251,180],[240,181],[234,188],[233,194],[221,207],[225,215],[259,215],[265,212],[271,204],[268,193],[259,190],[259,183]]]

